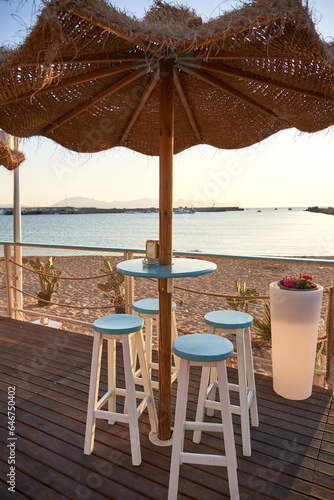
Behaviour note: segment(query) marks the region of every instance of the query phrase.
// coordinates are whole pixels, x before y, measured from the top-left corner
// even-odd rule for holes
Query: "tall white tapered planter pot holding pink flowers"
[[[312,394],[323,287],[282,290],[270,284],[274,391],[286,399]]]

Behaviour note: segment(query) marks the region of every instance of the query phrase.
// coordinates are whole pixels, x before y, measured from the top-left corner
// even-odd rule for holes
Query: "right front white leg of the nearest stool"
[[[223,421],[223,434],[225,443],[225,456],[227,464],[228,484],[230,497],[232,500],[239,500],[239,488],[237,477],[237,457],[235,452],[233,423],[230,411],[230,396],[228,391],[228,381],[226,373],[226,363],[217,363],[218,388],[221,406],[221,416]]]

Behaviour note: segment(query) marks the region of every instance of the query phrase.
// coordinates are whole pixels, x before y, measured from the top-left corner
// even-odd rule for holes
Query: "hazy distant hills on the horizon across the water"
[[[57,203],[51,205],[52,207],[83,207],[83,208],[158,208],[159,200],[154,198],[140,198],[139,200],[132,201],[101,201],[95,200],[94,198],[85,198],[82,196],[76,196],[73,198],[67,198]],[[174,208],[177,207],[239,207],[239,202],[233,203],[217,203],[213,200],[196,201],[196,200],[185,200],[179,198],[173,202]]]

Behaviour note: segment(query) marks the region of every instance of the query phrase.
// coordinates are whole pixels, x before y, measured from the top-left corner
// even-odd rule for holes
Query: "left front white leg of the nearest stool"
[[[173,432],[173,450],[169,476],[168,500],[176,500],[179,486],[181,453],[184,443],[184,423],[186,420],[189,382],[189,362],[180,361],[180,372],[176,397],[175,421]]]

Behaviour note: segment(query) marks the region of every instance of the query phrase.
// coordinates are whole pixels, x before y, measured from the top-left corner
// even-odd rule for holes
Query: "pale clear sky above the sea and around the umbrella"
[[[117,7],[138,18],[150,1],[117,0]],[[238,1],[180,1],[204,21]],[[0,45],[14,46],[32,26],[40,0],[0,0]],[[318,32],[334,37],[333,0],[309,0]],[[20,167],[21,203],[49,206],[87,197],[107,202],[158,198],[158,158],[125,148],[84,155],[43,137],[25,139]],[[0,166],[0,206],[12,204],[13,174]],[[301,134],[283,131],[249,148],[222,151],[196,146],[174,157],[174,199],[202,204],[237,203],[246,207],[334,206],[334,129]]]

